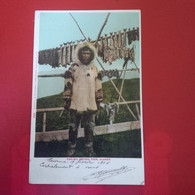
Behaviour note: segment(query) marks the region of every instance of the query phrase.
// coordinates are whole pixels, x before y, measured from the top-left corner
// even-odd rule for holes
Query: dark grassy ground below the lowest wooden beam
[[[66,157],[68,141],[37,142],[35,157]],[[94,136],[96,157],[141,158],[140,130]],[[77,141],[75,157],[85,157],[84,138]]]

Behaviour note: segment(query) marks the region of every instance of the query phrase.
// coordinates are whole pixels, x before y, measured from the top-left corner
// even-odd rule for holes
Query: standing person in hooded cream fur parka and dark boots
[[[70,112],[67,156],[75,153],[78,127],[83,119],[85,133],[85,155],[93,156],[93,130],[95,113],[103,100],[101,74],[94,64],[95,47],[88,42],[77,45],[75,63],[65,72],[63,98],[65,109]]]

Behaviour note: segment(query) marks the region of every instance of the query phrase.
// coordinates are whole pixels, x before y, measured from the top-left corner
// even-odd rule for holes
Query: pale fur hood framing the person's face
[[[79,51],[84,47],[88,47],[93,53],[93,58],[91,59],[91,62],[87,65],[89,67],[89,66],[93,65],[93,63],[96,59],[96,54],[97,54],[96,48],[94,47],[94,45],[92,43],[83,42],[83,43],[80,43],[77,45],[76,50],[75,50],[74,62],[77,63],[79,66],[83,65],[82,62],[79,60],[78,55],[79,55]]]

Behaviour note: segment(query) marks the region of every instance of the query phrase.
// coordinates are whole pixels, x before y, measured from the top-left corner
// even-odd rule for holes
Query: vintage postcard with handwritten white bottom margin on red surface
[[[140,10],[36,11],[29,182],[144,185]]]

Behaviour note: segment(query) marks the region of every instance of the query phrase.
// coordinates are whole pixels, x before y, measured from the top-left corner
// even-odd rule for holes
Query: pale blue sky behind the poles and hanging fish
[[[123,29],[129,29],[133,27],[140,27],[140,12],[139,11],[110,11],[111,13],[106,26],[102,31],[102,36],[104,34],[109,34],[110,32],[123,31]],[[81,27],[83,33],[88,38],[96,40],[99,31],[106,19],[108,11],[71,11],[71,14],[77,20],[79,26]],[[39,25],[39,35],[38,35],[38,48],[39,50],[50,49],[59,47],[60,44],[69,41],[77,41],[84,39],[79,28],[77,27],[75,21],[70,15],[70,12],[65,11],[39,11],[38,12],[38,22]],[[129,48],[135,46],[135,59],[136,64],[140,66],[140,41],[134,41]],[[101,67],[98,63],[95,63],[99,70]],[[122,69],[123,60],[116,60],[112,65],[108,63],[104,64],[105,69]],[[129,63],[128,68],[134,68],[135,66]],[[66,69],[52,68],[50,65],[39,65],[39,74],[55,74],[64,72]],[[127,74],[128,78],[139,77],[138,73]],[[52,84],[54,90],[50,90],[46,85],[48,83]],[[44,97],[48,95],[53,95],[60,93],[64,87],[63,78],[39,78],[38,79],[38,97]]]

